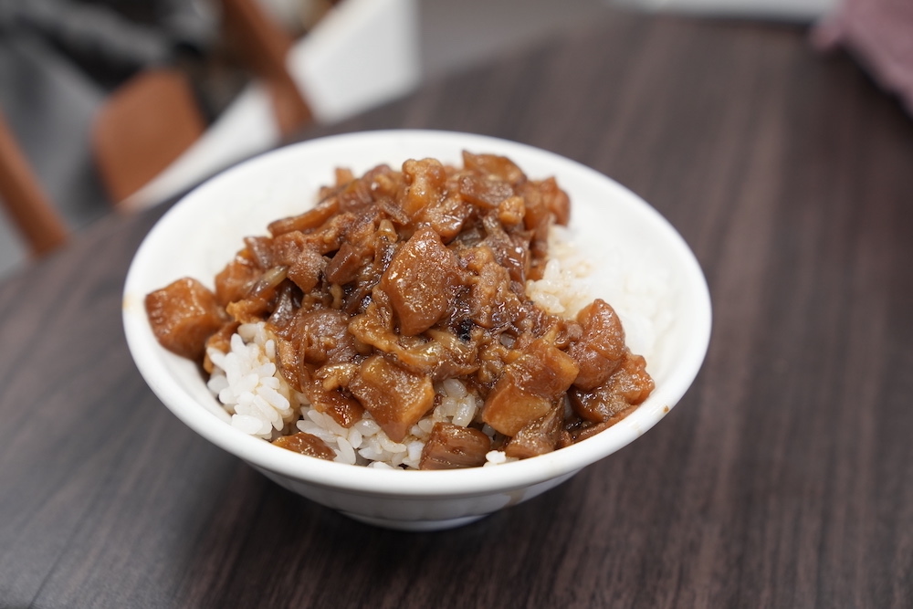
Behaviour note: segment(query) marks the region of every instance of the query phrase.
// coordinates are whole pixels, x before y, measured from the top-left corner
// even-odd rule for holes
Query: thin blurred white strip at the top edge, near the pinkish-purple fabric
[[[827,14],[838,0],[609,0],[654,11],[813,21]]]

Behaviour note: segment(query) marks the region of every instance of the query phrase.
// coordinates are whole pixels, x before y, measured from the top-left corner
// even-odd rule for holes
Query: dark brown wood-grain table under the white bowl
[[[162,209],[0,287],[0,605],[913,606],[913,120],[807,32],[609,13],[302,137],[528,142],[677,226],[714,333],[632,446],[433,534],[300,499],[171,415],[121,331]]]

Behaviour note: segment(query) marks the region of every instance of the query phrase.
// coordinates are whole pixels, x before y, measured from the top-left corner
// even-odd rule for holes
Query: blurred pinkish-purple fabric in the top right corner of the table
[[[813,42],[845,48],[913,115],[913,0],[845,0],[814,28]]]

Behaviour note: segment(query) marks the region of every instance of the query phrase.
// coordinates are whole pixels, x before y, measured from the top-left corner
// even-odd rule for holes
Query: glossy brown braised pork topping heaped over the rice
[[[294,390],[343,427],[367,411],[394,442],[439,400],[436,383],[458,379],[483,406],[466,426],[436,424],[421,467],[533,457],[613,425],[654,386],[608,303],[569,319],[527,296],[570,213],[554,179],[491,154],[340,170],[317,205],[247,237],[214,291],[184,278],[150,294],[149,319],[207,370],[207,346],[225,352],[239,324],[265,321]],[[332,458],[320,442],[277,444]]]

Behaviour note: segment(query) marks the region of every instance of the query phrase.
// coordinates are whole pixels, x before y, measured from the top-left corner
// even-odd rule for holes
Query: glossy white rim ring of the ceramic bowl
[[[189,394],[184,393],[176,386],[176,383],[168,383],[168,373],[160,357],[163,348],[154,339],[152,342],[149,341],[152,333],[149,331],[148,321],[145,319],[142,298],[137,303],[135,295],[138,291],[142,291],[140,288],[142,274],[150,264],[149,257],[152,255],[153,247],[164,238],[172,223],[180,221],[181,210],[185,205],[192,205],[187,202],[205,197],[209,190],[217,188],[218,184],[231,179],[231,176],[239,172],[256,173],[260,167],[276,162],[279,157],[306,154],[313,152],[314,149],[320,150],[328,146],[331,148],[334,146],[360,146],[391,139],[412,143],[436,142],[436,145],[453,144],[462,148],[496,152],[511,158],[511,155],[521,157],[535,154],[549,163],[560,165],[564,173],[574,173],[585,176],[589,180],[602,182],[607,186],[611,185],[617,192],[624,194],[627,199],[625,205],[640,206],[640,212],[648,216],[651,226],[663,234],[668,243],[677,249],[677,255],[681,258],[679,263],[687,273],[684,281],[689,286],[689,293],[697,305],[697,315],[689,320],[691,340],[687,341],[681,358],[682,362],[675,367],[666,382],[657,385],[656,390],[645,403],[641,404],[621,423],[572,446],[566,446],[540,457],[521,459],[495,467],[436,471],[357,467],[299,455],[278,446],[272,446],[257,437],[247,436],[231,425],[226,425],[205,407],[201,407],[201,404]],[[518,164],[522,167],[521,162]],[[412,129],[357,131],[293,143],[260,154],[243,163],[238,163],[225,172],[216,174],[185,194],[152,226],[131,261],[123,293],[124,332],[131,356],[139,372],[152,392],[173,415],[176,415],[197,434],[251,465],[310,485],[355,493],[414,499],[442,496],[470,497],[495,490],[528,487],[576,472],[630,444],[636,437],[643,435],[653,425],[656,425],[677,404],[697,377],[707,354],[712,317],[706,278],[685,239],[652,205],[647,204],[623,185],[582,163],[525,143],[458,131]]]

